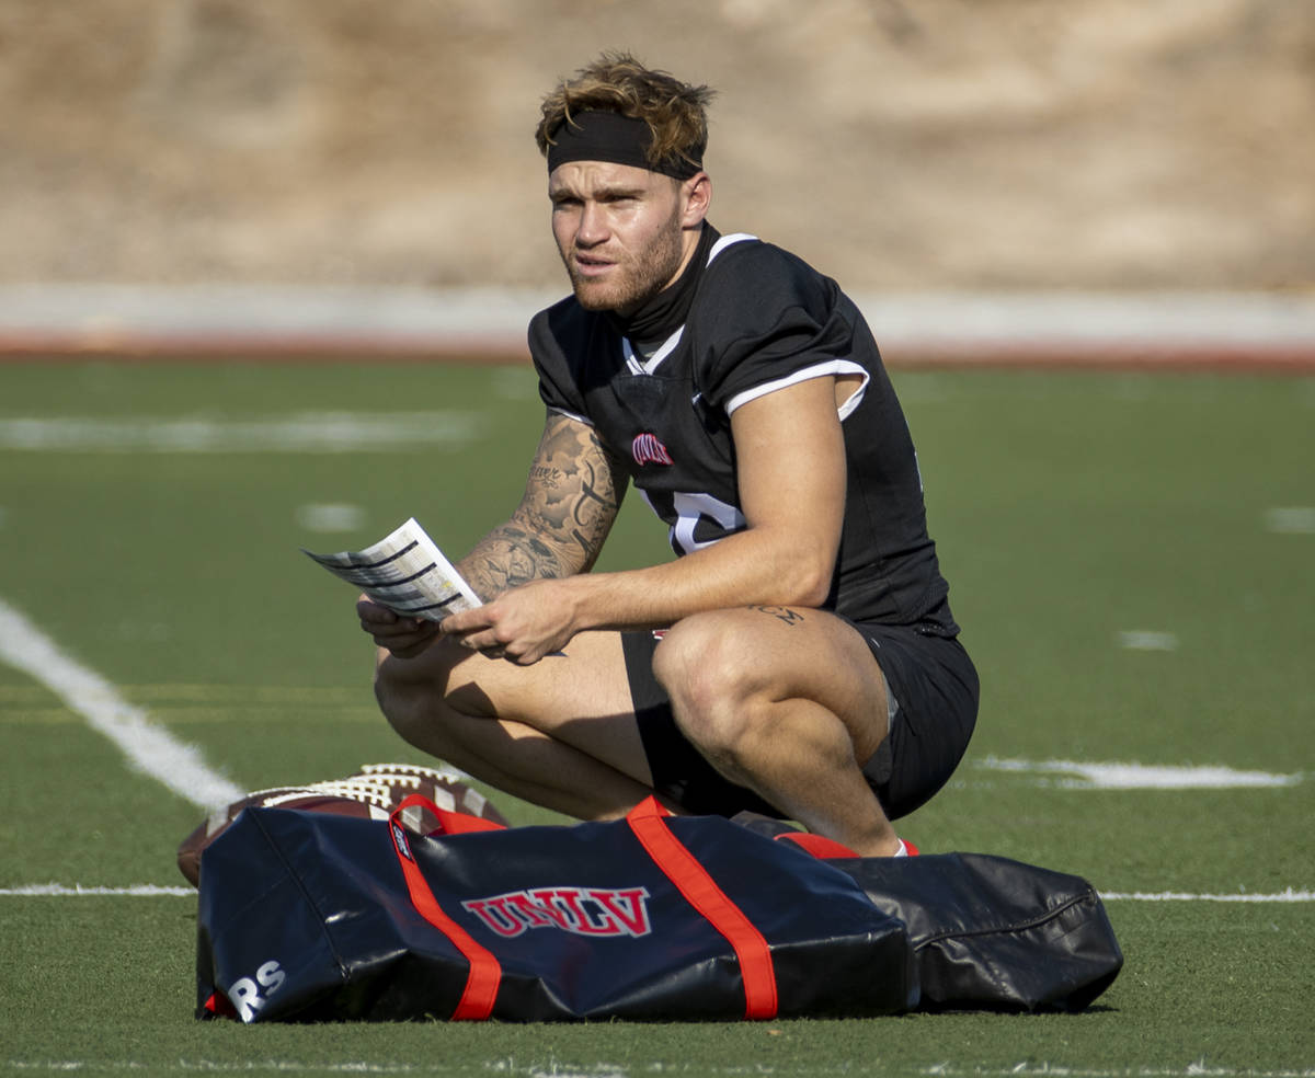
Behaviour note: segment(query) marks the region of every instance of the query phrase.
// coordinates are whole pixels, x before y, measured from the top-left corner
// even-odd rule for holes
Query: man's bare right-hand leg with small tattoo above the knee
[[[856,853],[899,848],[861,772],[886,735],[885,681],[851,626],[807,609],[698,614],[667,634],[654,670],[726,778]]]

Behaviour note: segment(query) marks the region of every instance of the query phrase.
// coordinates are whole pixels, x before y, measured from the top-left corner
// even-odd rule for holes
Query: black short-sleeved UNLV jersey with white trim
[[[927,535],[922,480],[876,342],[828,277],[756,237],[705,225],[684,322],[643,355],[614,317],[568,297],[530,323],[539,392],[594,427],[671,530],[677,555],[746,527],[730,415],[810,377],[861,375],[840,408],[844,528],[827,609],[957,632]],[[790,452],[790,431],[780,434]]]

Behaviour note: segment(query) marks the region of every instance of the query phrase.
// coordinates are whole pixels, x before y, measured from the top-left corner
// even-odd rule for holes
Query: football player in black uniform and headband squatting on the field
[[[898,856],[977,674],[863,316],[707,220],[710,97],[614,53],[543,100],[572,288],[530,325],[543,436],[458,565],[483,606],[435,626],[358,603],[376,693],[412,744],[580,819],[656,794]],[[677,557],[592,573],[629,486]]]

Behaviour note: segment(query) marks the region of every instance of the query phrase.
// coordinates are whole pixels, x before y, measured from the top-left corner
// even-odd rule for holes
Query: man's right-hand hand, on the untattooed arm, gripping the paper
[[[450,614],[439,628],[464,648],[529,667],[562,651],[576,634],[573,598],[569,580],[537,580]]]

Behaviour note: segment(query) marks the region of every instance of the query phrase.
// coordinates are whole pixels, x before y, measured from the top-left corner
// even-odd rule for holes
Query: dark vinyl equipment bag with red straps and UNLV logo
[[[425,807],[443,833],[414,833]],[[197,1015],[771,1019],[918,1003],[905,926],[718,816],[488,830],[247,808],[201,856]],[[477,833],[467,828],[479,828]]]

